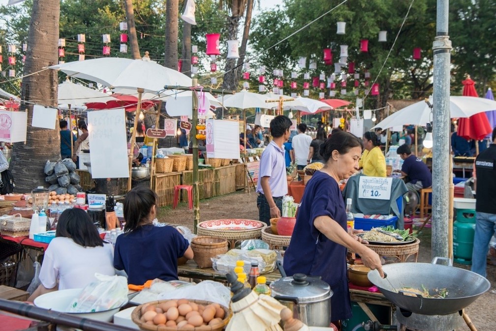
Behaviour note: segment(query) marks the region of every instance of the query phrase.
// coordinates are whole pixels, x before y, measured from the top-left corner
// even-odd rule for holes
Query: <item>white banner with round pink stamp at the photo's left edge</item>
[[[25,142],[28,113],[0,111],[0,142]]]

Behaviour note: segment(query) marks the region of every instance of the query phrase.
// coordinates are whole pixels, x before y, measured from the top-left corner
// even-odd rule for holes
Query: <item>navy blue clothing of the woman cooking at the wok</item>
[[[337,182],[316,171],[305,187],[298,209],[293,239],[284,254],[288,276],[303,273],[320,276],[330,285],[331,321],[351,318],[346,247],[329,240],[313,225],[318,216],[329,216],[346,231],[346,209]]]

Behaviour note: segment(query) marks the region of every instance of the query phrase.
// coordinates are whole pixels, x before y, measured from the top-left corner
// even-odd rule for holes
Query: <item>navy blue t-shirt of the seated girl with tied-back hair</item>
[[[141,285],[155,278],[177,280],[178,258],[188,246],[173,227],[144,225],[117,237],[114,267],[126,272],[128,284]]]

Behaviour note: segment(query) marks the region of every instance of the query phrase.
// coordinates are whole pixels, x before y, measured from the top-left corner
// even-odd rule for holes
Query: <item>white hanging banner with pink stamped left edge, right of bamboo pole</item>
[[[207,157],[240,158],[239,124],[236,121],[206,120]]]

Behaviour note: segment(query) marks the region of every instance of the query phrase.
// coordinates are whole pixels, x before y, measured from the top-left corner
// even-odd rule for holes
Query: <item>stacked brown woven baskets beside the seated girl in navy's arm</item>
[[[199,268],[211,268],[212,257],[228,251],[227,240],[211,236],[196,236],[191,240],[194,262]]]

